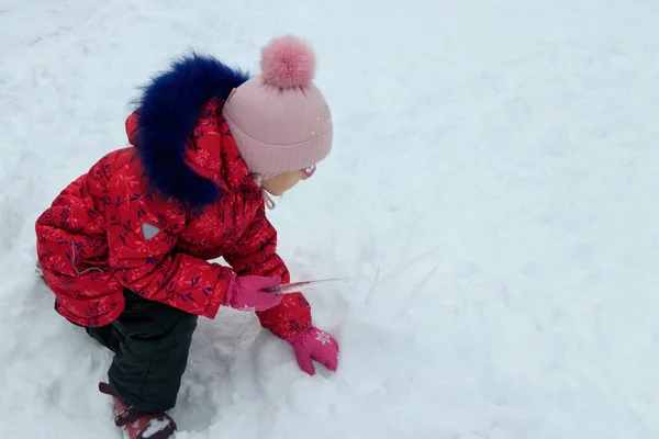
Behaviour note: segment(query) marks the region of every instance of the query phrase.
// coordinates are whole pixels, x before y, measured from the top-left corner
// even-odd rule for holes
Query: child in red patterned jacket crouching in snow
[[[192,55],[145,89],[126,121],[132,147],[100,159],[37,219],[37,254],[57,312],[115,352],[100,390],[127,437],[176,430],[198,316],[256,312],[300,368],[336,370],[336,340],[312,324],[265,205],[311,177],[332,148],[315,60],[294,37],[263,50],[261,75]],[[223,257],[231,266],[208,260]],[[150,426],[150,428],[149,428]],[[147,431],[148,430],[148,431]]]

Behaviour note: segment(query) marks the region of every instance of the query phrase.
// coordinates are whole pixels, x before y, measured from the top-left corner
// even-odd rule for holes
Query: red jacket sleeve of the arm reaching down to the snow
[[[259,210],[256,219],[245,230],[234,249],[224,259],[238,275],[278,275],[290,282],[290,273],[277,255],[277,230]],[[256,315],[263,327],[287,339],[311,326],[311,306],[302,293],[287,294],[281,303]]]

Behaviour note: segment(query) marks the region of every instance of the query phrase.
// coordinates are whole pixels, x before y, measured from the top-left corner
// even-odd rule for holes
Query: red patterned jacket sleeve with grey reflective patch
[[[110,267],[126,289],[190,314],[214,318],[233,270],[176,250],[186,213],[172,202],[131,193],[134,177],[109,184]]]

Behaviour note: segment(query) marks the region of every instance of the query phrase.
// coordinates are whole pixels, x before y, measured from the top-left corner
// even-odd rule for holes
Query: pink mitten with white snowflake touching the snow
[[[315,360],[331,371],[338,367],[338,345],[330,334],[312,326],[287,341],[293,347],[298,364],[304,372],[313,375],[315,369],[311,360]]]

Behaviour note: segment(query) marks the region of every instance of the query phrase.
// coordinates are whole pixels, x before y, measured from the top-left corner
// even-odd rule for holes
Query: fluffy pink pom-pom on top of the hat
[[[309,87],[315,76],[315,54],[295,36],[280,36],[261,49],[264,82],[288,89]]]

